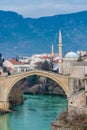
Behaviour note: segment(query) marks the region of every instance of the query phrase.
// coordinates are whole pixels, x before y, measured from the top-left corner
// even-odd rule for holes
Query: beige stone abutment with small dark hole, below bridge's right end
[[[71,96],[68,100],[68,114],[73,116],[75,114],[85,114],[86,98],[84,91],[78,92]]]

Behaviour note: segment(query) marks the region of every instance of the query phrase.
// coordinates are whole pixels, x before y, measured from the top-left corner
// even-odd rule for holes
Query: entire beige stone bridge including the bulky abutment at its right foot
[[[1,76],[0,109],[3,109],[5,111],[9,110],[9,94],[12,88],[18,81],[32,75],[48,77],[57,82],[62,87],[68,97],[68,113],[70,113],[70,115],[72,115],[72,111],[75,111],[75,113],[77,112],[78,114],[80,112],[87,113],[87,79],[83,79],[85,83],[84,90],[78,90],[77,92],[74,92],[75,81],[73,77],[42,70],[33,70],[10,76]]]

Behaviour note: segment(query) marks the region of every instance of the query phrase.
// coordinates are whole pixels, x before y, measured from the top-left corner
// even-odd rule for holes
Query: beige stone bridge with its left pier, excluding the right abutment
[[[27,71],[27,72],[10,75],[10,76],[1,76],[0,77],[0,109],[4,109],[4,110],[9,109],[8,96],[9,93],[11,92],[11,89],[18,81],[32,75],[44,76],[54,80],[62,87],[67,97],[71,95],[71,89],[69,89],[69,77],[65,75],[60,75],[58,73],[42,71],[42,70],[33,70],[33,71]]]

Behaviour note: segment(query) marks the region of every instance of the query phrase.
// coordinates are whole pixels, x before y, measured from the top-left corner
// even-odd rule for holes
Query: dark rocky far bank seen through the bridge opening
[[[24,93],[27,94],[43,94],[43,95],[59,95],[66,97],[63,89],[53,80],[45,77],[37,77],[38,82],[36,84],[29,84],[27,81],[27,88],[24,89]]]

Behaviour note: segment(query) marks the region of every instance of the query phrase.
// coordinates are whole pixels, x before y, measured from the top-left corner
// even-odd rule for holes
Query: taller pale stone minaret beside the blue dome
[[[59,49],[59,73],[62,73],[63,70],[62,70],[62,33],[61,33],[61,30],[59,30],[59,43],[58,43],[58,49]]]

